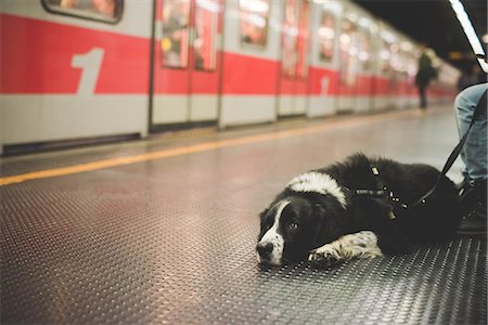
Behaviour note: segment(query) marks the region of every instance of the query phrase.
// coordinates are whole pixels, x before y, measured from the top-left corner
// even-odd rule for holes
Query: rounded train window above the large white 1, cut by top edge
[[[117,23],[121,18],[123,0],[41,0],[53,13],[65,14],[104,23]]]

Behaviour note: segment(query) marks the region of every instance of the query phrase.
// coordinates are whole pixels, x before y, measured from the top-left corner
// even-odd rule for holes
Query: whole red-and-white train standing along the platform
[[[2,0],[0,24],[4,155],[418,105],[419,43],[349,0]]]

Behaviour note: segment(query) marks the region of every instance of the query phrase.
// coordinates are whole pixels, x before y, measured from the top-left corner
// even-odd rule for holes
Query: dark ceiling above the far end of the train
[[[427,43],[452,65],[466,69],[475,64],[471,46],[449,0],[354,1],[414,40]],[[462,3],[481,39],[487,34],[487,0],[462,0]]]

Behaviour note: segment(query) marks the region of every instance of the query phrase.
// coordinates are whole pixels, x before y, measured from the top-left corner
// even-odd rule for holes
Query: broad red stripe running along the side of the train
[[[95,83],[98,94],[147,94],[150,40],[141,37],[80,28],[39,20],[0,14],[0,93],[75,94],[82,69],[72,66],[74,55],[103,49]],[[411,82],[393,82],[382,77],[360,76],[352,86],[339,83],[337,70],[310,67],[308,80],[280,79],[280,62],[240,53],[222,56],[221,93],[277,95],[308,92],[312,95],[414,95]],[[155,93],[215,94],[216,73],[162,69],[156,51]],[[191,80],[191,87],[189,82]],[[452,95],[452,89],[431,88],[435,96]]]

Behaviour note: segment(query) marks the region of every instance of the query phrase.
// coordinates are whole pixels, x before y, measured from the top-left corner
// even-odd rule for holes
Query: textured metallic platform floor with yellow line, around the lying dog
[[[440,168],[449,107],[196,135],[1,159],[1,323],[487,323],[483,237],[256,263],[257,214],[287,181],[357,151]]]

